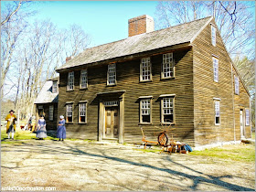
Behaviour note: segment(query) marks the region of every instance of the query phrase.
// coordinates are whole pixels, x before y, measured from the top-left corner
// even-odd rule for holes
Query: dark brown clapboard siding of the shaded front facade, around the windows
[[[160,100],[161,94],[176,94],[175,113],[177,140],[194,144],[193,131],[193,74],[192,50],[178,50],[174,52],[176,61],[176,79],[161,80],[162,54],[151,57],[152,82],[140,82],[140,59],[133,59],[116,63],[117,85],[106,86],[107,64],[88,68],[88,90],[80,90],[80,70],[75,70],[75,91],[66,91],[68,73],[59,74],[59,115],[66,113],[67,101],[74,101],[73,123],[67,124],[69,137],[82,139],[98,139],[98,113],[99,105],[96,94],[108,91],[125,91],[124,93],[124,142],[141,143],[142,133],[139,127],[139,97],[152,95],[152,124],[142,125],[148,139],[156,140],[155,132],[160,125]],[[70,70],[71,71],[71,70]],[[88,101],[87,124],[78,123],[78,102]]]

